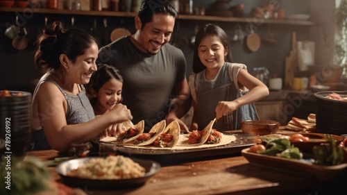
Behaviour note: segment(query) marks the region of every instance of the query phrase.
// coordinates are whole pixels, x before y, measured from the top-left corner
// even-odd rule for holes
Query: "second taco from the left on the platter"
[[[137,146],[146,146],[152,144],[155,139],[164,131],[167,122],[165,120],[155,124],[149,133],[141,133],[133,142]]]

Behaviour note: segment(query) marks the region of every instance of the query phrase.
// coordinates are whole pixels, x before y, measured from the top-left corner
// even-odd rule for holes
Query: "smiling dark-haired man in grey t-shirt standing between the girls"
[[[167,124],[176,119],[182,131],[188,130],[179,120],[191,106],[185,56],[167,44],[176,17],[168,1],[144,1],[135,17],[135,34],[121,37],[99,51],[98,62],[121,71],[122,103],[130,109],[134,124],[144,120],[146,132],[163,119]]]

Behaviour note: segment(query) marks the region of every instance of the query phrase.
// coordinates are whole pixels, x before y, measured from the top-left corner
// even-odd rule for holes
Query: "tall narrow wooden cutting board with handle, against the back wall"
[[[291,34],[291,51],[289,56],[285,58],[285,88],[291,88],[291,80],[298,67],[298,53],[296,51],[296,32]]]

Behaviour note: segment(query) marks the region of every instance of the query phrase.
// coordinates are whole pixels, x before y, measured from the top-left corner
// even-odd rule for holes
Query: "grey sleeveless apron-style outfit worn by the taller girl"
[[[239,69],[242,68],[246,69],[246,66],[226,62],[219,69],[214,80],[206,80],[205,70],[195,74],[194,88],[196,91],[196,103],[198,105],[199,130],[208,126],[210,121],[216,117],[214,110],[219,101],[233,101],[248,92],[239,90],[237,83],[234,81],[237,80]],[[232,72],[229,72],[231,69]],[[214,123],[213,128],[219,131],[241,129],[241,121],[249,119],[259,119],[253,103],[242,105],[234,112],[221,117]]]

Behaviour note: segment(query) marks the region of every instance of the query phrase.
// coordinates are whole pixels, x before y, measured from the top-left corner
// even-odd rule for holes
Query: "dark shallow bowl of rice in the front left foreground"
[[[128,158],[123,155],[76,158],[61,162],[56,167],[64,183],[76,187],[128,188],[143,185],[160,170],[152,160]]]

